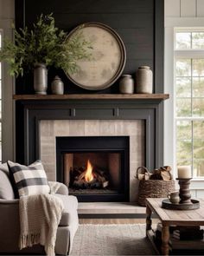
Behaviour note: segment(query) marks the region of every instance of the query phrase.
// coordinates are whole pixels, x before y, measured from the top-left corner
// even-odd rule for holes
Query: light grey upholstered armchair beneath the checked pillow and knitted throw
[[[73,237],[79,226],[78,201],[75,196],[68,195],[68,189],[62,183],[54,196],[60,197],[64,203],[64,211],[57,229],[55,253],[67,255],[71,252]],[[0,165],[0,254],[44,253],[43,246],[40,245],[20,251],[18,248],[19,234],[19,200],[14,199],[9,170],[7,165],[3,164]]]

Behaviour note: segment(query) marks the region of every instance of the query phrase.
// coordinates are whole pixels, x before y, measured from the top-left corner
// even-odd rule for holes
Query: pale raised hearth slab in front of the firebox
[[[146,208],[131,202],[79,202],[79,214],[145,214]]]

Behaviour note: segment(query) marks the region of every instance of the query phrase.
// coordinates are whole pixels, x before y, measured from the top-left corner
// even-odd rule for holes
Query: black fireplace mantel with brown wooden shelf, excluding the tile
[[[41,120],[143,120],[145,166],[163,166],[163,100],[169,95],[14,95],[16,161],[40,157]]]

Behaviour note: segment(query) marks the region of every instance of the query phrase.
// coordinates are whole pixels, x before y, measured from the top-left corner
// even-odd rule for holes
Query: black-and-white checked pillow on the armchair
[[[28,167],[8,161],[8,166],[16,197],[31,194],[49,194],[50,187],[41,161],[35,161]]]

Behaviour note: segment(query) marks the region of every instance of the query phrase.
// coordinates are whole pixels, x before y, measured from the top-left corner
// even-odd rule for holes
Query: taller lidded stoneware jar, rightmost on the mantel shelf
[[[136,92],[137,94],[152,94],[152,71],[148,66],[141,66],[136,72]]]

